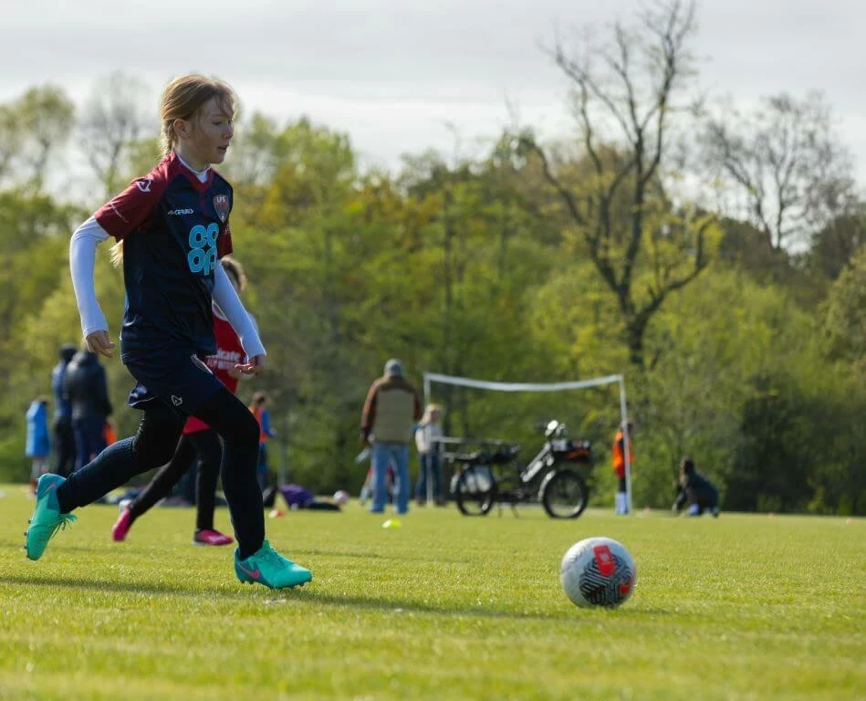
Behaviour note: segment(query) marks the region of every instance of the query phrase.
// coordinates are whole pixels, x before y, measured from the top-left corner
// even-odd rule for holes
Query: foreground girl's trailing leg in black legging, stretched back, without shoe
[[[132,477],[165,465],[174,455],[183,423],[183,418],[166,404],[149,402],[134,437],[109,445],[57,487],[60,513],[86,507]]]

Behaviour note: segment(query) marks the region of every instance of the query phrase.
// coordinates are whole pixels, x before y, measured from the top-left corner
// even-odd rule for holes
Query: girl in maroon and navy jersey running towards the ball
[[[164,158],[145,177],[81,225],[69,245],[81,327],[91,351],[112,357],[114,343],[93,284],[96,248],[110,235],[123,242],[126,310],[120,359],[138,382],[130,406],[143,412],[138,433],[102,451],[64,479],[39,479],[26,532],[27,557],[38,560],[59,528],[131,477],[169,462],[183,425],[201,419],[224,442],[221,473],[235,527],[235,574],[271,588],[312,579],[265,539],[262,493],[256,483],[258,425],[243,403],[204,364],[212,355],[212,304],[237,332],[248,361],[235,370],[258,374],[265,348],[219,264],[232,252],[228,217],[232,187],[214,172],[234,136],[235,96],[203,76],[173,80],[162,94]]]

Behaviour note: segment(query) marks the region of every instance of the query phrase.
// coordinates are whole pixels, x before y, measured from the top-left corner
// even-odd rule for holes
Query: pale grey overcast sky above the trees
[[[0,101],[52,82],[77,102],[110,71],[158,92],[190,71],[224,78],[247,109],[348,131],[365,164],[454,152],[508,123],[566,133],[566,83],[539,49],[559,26],[630,20],[637,0],[7,0]],[[752,102],[824,92],[866,183],[866,2],[703,0],[699,85]],[[477,150],[477,147],[475,147]]]

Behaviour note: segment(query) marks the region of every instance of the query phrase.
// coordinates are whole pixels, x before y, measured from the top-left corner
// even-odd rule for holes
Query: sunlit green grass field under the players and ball
[[[3,699],[866,698],[863,519],[450,507],[383,529],[353,501],[267,520],[314,573],[274,592],[235,581],[232,549],[193,547],[189,509],[114,544],[117,509],[88,507],[30,562],[32,501],[2,489]],[[559,587],[596,535],[637,562],[618,610]]]

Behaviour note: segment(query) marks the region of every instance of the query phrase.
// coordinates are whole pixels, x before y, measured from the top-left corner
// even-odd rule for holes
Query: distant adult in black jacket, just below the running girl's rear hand
[[[80,470],[107,447],[105,422],[112,412],[105,368],[96,353],[84,349],[72,357],[63,392],[72,408],[75,469]]]

